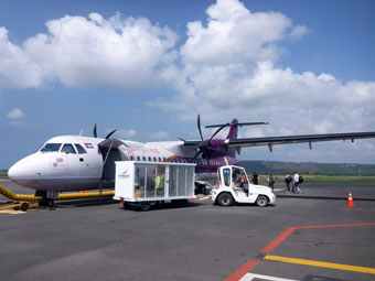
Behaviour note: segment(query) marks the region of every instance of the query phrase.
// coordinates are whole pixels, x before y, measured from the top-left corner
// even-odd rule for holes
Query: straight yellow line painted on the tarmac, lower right
[[[285,257],[278,257],[278,256],[269,256],[269,255],[267,255],[264,259],[265,260],[281,261],[281,262],[289,262],[289,263],[297,263],[297,264],[303,264],[303,266],[311,266],[311,267],[330,268],[330,269],[339,269],[339,270],[346,270],[346,271],[355,271],[355,272],[375,274],[375,268],[363,268],[363,267],[346,266],[346,264],[332,263],[332,262],[294,259],[294,258],[285,258]]]

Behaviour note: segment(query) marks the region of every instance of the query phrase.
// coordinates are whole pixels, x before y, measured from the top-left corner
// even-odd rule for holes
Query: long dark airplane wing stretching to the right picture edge
[[[354,142],[355,139],[368,139],[368,138],[375,138],[375,132],[345,132],[345,133],[302,134],[285,137],[262,137],[262,138],[225,140],[225,143],[231,148],[268,145],[269,149],[271,150],[271,147],[274,144],[304,142],[309,143],[311,149],[311,143],[318,141],[350,140]]]

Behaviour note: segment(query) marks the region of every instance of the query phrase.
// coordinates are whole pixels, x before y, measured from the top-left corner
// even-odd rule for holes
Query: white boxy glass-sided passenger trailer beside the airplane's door
[[[184,205],[194,195],[195,164],[174,162],[117,161],[114,199],[148,210],[165,201]]]

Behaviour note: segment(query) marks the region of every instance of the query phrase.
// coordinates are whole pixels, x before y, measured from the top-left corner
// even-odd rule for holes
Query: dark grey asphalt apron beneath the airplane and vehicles
[[[8,181],[0,184],[33,193]],[[3,212],[0,280],[375,280],[375,273],[341,267],[375,270],[375,224],[367,225],[375,223],[375,185],[303,183],[299,195],[282,187],[276,185],[277,205],[265,208],[196,201],[140,212],[89,201]],[[350,191],[355,207],[346,206]],[[256,266],[247,267],[249,261]],[[253,273],[262,278],[250,279]]]

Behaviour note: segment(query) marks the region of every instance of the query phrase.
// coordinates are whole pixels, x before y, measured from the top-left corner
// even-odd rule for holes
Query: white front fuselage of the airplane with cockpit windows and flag
[[[9,177],[28,188],[38,191],[83,191],[113,187],[115,161],[189,162],[201,169],[197,181],[213,179],[216,173],[204,171],[206,161],[193,160],[196,150],[181,145],[181,141],[140,143],[127,140],[62,136],[47,140],[35,153],[18,161]],[[224,160],[211,161],[211,166]]]

